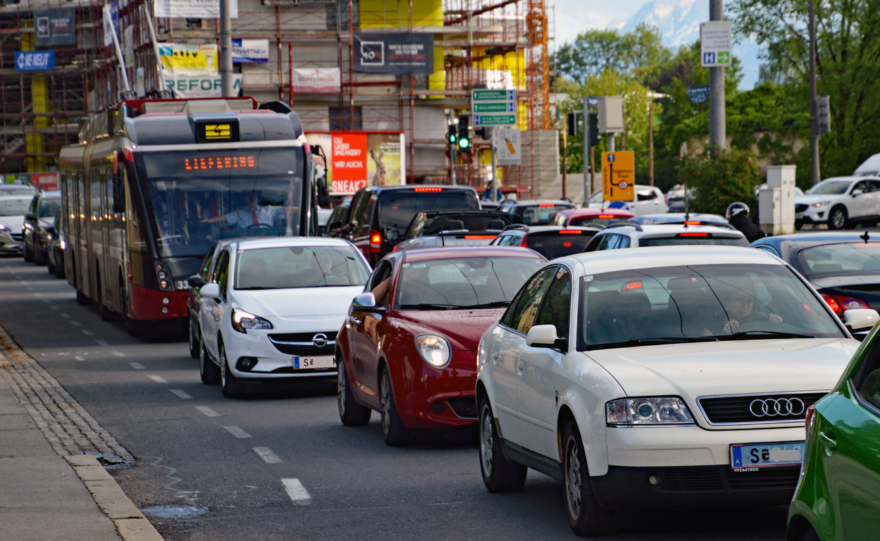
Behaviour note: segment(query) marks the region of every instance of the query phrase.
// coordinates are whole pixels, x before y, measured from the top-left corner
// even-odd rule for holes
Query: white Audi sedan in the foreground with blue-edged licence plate
[[[876,320],[844,314],[851,329]],[[579,535],[634,507],[786,503],[807,409],[857,347],[799,274],[758,250],[550,261],[480,340],[483,481],[517,490],[527,468],[560,479]]]

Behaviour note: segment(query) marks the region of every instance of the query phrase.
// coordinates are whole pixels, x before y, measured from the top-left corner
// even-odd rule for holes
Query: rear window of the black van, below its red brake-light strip
[[[472,191],[441,189],[439,192],[389,190],[379,196],[379,225],[406,230],[419,212],[478,209],[480,201]]]

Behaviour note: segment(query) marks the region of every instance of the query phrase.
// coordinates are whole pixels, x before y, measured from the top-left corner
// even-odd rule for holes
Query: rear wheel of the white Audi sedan
[[[525,485],[528,468],[504,457],[488,397],[480,397],[480,473],[489,492],[513,492]]]

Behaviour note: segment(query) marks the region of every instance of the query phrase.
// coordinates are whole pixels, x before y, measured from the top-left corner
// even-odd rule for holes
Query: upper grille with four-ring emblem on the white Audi
[[[713,425],[774,423],[804,420],[807,408],[825,394],[826,391],[702,397],[697,404]]]

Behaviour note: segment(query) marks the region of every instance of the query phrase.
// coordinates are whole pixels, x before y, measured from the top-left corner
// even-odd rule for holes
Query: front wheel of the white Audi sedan
[[[562,478],[568,524],[578,536],[612,533],[614,514],[599,506],[590,482],[583,440],[574,420],[568,420],[562,436]]]

